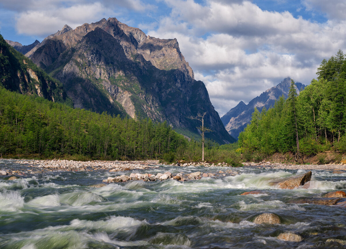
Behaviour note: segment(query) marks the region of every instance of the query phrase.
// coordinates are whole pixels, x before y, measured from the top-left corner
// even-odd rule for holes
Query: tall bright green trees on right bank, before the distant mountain
[[[251,123],[239,135],[239,150],[264,155],[291,151],[302,157],[328,150],[346,152],[343,51],[323,60],[317,75],[299,96],[292,80],[287,100],[281,97],[261,113],[255,108]]]

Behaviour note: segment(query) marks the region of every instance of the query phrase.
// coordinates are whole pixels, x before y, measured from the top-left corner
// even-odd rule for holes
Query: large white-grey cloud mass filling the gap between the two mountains
[[[148,33],[177,38],[220,116],[287,76],[309,84],[321,60],[346,45],[345,22],[316,23],[249,1],[165,2],[172,8],[170,16]]]

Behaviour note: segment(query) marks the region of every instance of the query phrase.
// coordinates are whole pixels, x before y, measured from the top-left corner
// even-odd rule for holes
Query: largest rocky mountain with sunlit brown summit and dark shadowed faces
[[[84,23],[48,36],[27,52],[34,63],[59,79],[74,107],[167,121],[176,131],[199,137],[198,121],[218,143],[235,141],[212,106],[203,82],[180,52],[176,39],[147,36],[116,18]]]

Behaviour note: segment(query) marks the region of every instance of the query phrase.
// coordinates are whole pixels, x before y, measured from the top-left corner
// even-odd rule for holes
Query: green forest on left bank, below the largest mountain
[[[164,123],[112,117],[0,86],[0,153],[94,159],[160,158],[188,141]],[[200,146],[199,146],[200,147]]]

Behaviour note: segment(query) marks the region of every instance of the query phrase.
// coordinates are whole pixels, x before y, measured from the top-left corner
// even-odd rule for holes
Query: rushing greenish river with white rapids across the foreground
[[[0,170],[23,168],[15,160],[0,161]],[[160,166],[126,174],[227,169]],[[344,248],[330,239],[346,240],[345,208],[291,201],[345,191],[346,174],[315,170],[308,189],[282,190],[271,181],[305,171],[232,170],[241,174],[188,182],[129,181],[102,188],[88,185],[113,173],[55,171],[12,181],[1,176],[0,248]],[[240,195],[256,189],[266,191]],[[277,214],[282,223],[253,223],[263,212]],[[303,241],[276,238],[285,231],[300,234]]]

